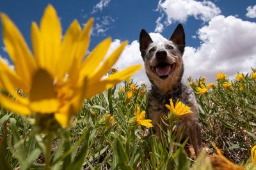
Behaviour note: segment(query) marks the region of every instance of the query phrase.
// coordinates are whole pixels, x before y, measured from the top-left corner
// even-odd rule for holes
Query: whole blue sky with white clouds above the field
[[[169,39],[179,23],[186,34],[185,79],[205,76],[207,82],[212,82],[216,73],[224,72],[234,78],[237,72],[247,73],[256,67],[255,0],[1,0],[0,11],[15,22],[31,46],[31,22],[40,22],[47,4],[56,9],[63,34],[72,20],[77,19],[83,26],[90,17],[95,18],[89,51],[108,36],[113,42],[107,55],[122,41],[129,40],[114,66],[118,70],[133,64],[143,65],[138,43],[141,29],[146,29],[153,41],[161,41]],[[2,59],[15,67],[4,48],[2,34],[0,39]],[[133,78],[148,83],[145,69]]]

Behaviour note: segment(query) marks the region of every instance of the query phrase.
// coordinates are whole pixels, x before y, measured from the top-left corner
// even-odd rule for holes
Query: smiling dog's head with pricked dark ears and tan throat
[[[141,56],[148,78],[159,89],[171,90],[181,80],[184,48],[185,33],[181,24],[176,27],[168,41],[153,42],[150,35],[144,29],[141,30]]]

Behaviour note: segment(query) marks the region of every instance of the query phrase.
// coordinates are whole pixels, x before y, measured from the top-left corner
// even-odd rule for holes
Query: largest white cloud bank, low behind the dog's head
[[[153,41],[162,41],[159,33],[150,33]],[[216,73],[223,71],[229,77],[250,71],[256,66],[256,23],[243,21],[234,16],[222,15],[212,18],[209,24],[197,32],[201,41],[198,48],[187,46],[184,52],[184,77],[199,78],[205,76],[207,82],[215,81]],[[110,51],[113,51],[120,40],[113,41]],[[140,55],[140,45],[137,40],[125,47],[120,59],[115,64],[119,70],[132,64],[143,65]],[[148,83],[145,69],[133,76],[135,81]]]

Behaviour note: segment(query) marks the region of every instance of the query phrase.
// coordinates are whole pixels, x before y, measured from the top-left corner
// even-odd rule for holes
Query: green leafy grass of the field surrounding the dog
[[[253,169],[250,149],[256,144],[256,81],[250,74],[232,80],[228,89],[218,80],[214,87],[197,94],[204,78],[193,82],[200,106],[204,145],[209,154],[216,143],[232,162]],[[230,82],[230,81],[229,81]],[[154,134],[144,135],[145,127],[136,124],[136,106],[147,110],[145,85],[124,83],[92,99],[72,120],[68,129],[51,126],[52,136],[35,125],[35,116],[21,117],[1,108],[0,165],[3,169],[213,169],[202,154],[196,160],[186,156],[186,143],[176,143],[180,135],[170,124],[159,142]],[[205,85],[206,86],[206,85]],[[127,93],[132,92],[128,99]],[[175,120],[173,120],[175,121]],[[41,122],[44,124],[44,122]],[[50,142],[45,142],[45,140]],[[51,159],[45,160],[52,143]],[[222,160],[221,160],[222,161]],[[227,164],[225,164],[227,166]],[[0,169],[1,169],[0,167]]]

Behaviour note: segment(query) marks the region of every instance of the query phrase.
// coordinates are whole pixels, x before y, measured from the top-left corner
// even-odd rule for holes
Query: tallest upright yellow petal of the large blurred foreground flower
[[[42,46],[42,63],[38,63],[41,68],[46,69],[52,75],[56,75],[58,68],[56,63],[60,59],[61,46],[61,24],[58,15],[51,5],[45,8],[44,15],[40,22],[40,46]]]

